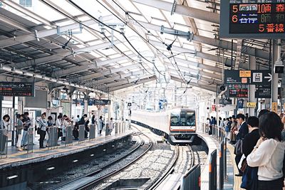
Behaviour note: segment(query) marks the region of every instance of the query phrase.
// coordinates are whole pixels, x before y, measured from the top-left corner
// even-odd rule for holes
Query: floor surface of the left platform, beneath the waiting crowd
[[[16,147],[9,145],[8,147],[8,157],[0,159],[0,169],[4,167],[16,167],[21,166],[24,164],[30,164],[34,162],[41,162],[43,160],[56,158],[56,157],[63,157],[68,154],[75,154],[77,152],[82,152],[86,149],[90,149],[93,147],[98,147],[101,144],[105,144],[107,142],[112,142],[115,139],[121,139],[130,135],[133,131],[127,130],[124,133],[120,134],[113,134],[105,137],[103,134],[102,136],[96,136],[95,140],[89,141],[86,139],[84,143],[79,144],[78,141],[73,141],[72,146],[65,146],[65,142],[58,142],[61,144],[57,146],[55,149],[39,149],[38,146],[38,134],[35,138],[35,145],[33,145],[33,152],[27,153],[26,151],[19,152]],[[96,133],[97,135],[97,133]],[[46,142],[44,142],[46,145]]]

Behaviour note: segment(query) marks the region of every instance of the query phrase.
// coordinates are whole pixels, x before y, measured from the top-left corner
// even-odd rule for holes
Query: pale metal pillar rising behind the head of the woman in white
[[[281,57],[281,40],[273,41],[273,56],[272,56],[272,83],[271,83],[271,110],[272,102],[278,102],[278,74],[274,73],[274,64]],[[278,106],[277,106],[278,107]]]

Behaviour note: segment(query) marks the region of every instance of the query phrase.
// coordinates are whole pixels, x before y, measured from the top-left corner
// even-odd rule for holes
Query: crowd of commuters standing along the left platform
[[[31,128],[32,119],[28,117],[28,112],[24,112],[24,114],[16,115],[17,122],[16,122],[16,147],[19,151],[23,151],[27,149],[28,145],[28,129]],[[0,130],[4,130],[6,132],[4,134],[4,138],[1,138],[3,142],[0,142],[0,152],[3,152],[5,149],[5,142],[8,138],[7,129],[9,129],[10,125],[10,116],[4,115],[2,120],[0,121]],[[36,133],[39,134],[39,147],[45,148],[43,145],[44,140],[48,142],[49,131],[50,127],[57,127],[57,139],[59,140],[61,137],[61,141],[66,141],[66,127],[72,126],[73,127],[73,139],[78,140],[79,136],[79,125],[84,125],[84,136],[88,138],[88,133],[90,129],[90,124],[97,126],[98,128],[98,135],[102,135],[102,130],[105,127],[105,123],[103,122],[103,117],[100,116],[98,120],[95,119],[95,115],[91,117],[91,123],[89,122],[89,118],[87,114],[84,114],[82,117],[77,115],[76,120],[70,119],[67,115],[58,115],[57,118],[53,118],[51,116],[46,116],[46,112],[41,114],[41,117],[36,118],[35,122],[35,130]],[[111,134],[113,130],[113,118],[110,118],[108,122],[108,128],[106,128],[107,134]],[[59,145],[59,144],[58,144]],[[48,143],[46,144],[48,146]]]

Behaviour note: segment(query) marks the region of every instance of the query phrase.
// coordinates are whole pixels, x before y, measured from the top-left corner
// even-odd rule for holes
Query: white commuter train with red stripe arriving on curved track
[[[177,108],[165,112],[133,111],[131,120],[164,135],[171,144],[194,143],[196,139],[196,112]]]

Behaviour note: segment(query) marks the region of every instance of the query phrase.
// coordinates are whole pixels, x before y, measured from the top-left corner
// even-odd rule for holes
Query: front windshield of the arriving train
[[[193,111],[181,111],[172,112],[170,115],[171,126],[195,126],[195,112]]]

